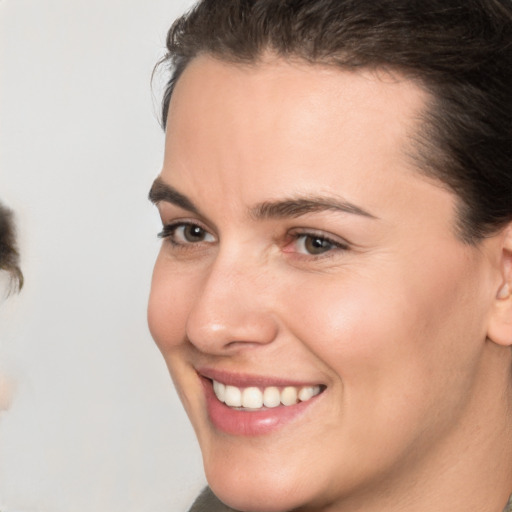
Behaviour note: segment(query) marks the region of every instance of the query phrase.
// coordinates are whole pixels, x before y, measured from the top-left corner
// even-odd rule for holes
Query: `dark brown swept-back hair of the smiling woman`
[[[512,220],[512,0],[202,0],[173,24],[162,125],[200,54],[397,72],[429,93],[414,158],[458,198],[457,234],[476,243]]]

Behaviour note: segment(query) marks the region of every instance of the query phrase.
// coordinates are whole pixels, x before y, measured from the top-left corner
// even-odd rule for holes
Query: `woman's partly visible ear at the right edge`
[[[491,311],[487,337],[498,345],[512,346],[512,223],[499,235],[500,279]]]

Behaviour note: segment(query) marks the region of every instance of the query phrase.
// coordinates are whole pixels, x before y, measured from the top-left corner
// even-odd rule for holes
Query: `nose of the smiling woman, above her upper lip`
[[[219,257],[192,304],[186,324],[189,341],[209,354],[227,355],[271,343],[278,334],[263,264]]]

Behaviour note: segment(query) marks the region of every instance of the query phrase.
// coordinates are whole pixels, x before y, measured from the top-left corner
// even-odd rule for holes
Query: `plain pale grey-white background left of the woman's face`
[[[0,304],[2,512],[175,512],[201,459],[146,326],[159,88],[189,0],[0,1],[0,199],[25,287]]]

